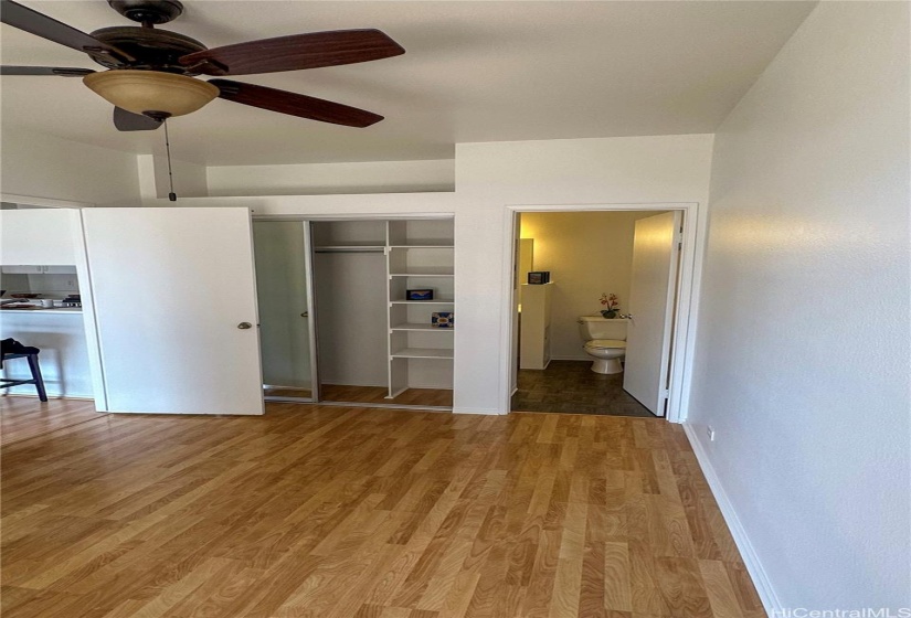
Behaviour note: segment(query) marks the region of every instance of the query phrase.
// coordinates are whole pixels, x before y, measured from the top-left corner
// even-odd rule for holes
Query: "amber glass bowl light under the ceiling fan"
[[[146,114],[183,116],[219,96],[209,82],[160,71],[114,70],[92,73],[83,83],[117,107]]]

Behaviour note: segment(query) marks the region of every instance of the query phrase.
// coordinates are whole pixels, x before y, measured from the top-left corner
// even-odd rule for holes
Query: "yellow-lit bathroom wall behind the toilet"
[[[551,355],[587,360],[579,316],[602,309],[602,292],[619,296],[629,309],[629,276],[636,220],[657,212],[522,213],[521,237],[534,238],[534,269],[550,270],[555,284],[551,307]]]

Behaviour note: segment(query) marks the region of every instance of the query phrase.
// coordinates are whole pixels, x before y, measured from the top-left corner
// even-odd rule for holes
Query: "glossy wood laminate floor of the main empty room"
[[[763,615],[657,419],[104,415],[6,446],[0,514],[4,618]]]

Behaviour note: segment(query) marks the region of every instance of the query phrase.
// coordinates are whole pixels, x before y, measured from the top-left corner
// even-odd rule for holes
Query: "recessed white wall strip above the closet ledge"
[[[208,170],[210,195],[316,195],[453,191],[452,159],[296,166],[227,166]]]

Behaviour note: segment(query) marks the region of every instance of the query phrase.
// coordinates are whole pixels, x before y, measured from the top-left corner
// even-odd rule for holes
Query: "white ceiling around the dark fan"
[[[104,0],[21,3],[85,32],[128,25]],[[385,116],[337,127],[220,99],[169,121],[174,154],[209,166],[448,159],[470,141],[713,131],[813,9],[791,1],[184,0],[165,28],[209,47],[378,28],[402,56],[239,81]],[[0,26],[2,63],[97,68],[80,52]],[[161,131],[114,129],[81,79],[4,76],[2,126],[137,153]]]

